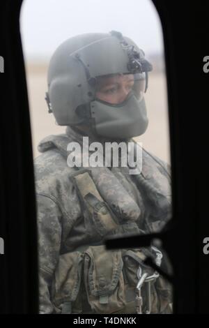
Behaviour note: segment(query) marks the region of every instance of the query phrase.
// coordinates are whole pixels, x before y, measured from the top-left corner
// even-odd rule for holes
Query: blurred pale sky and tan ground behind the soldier
[[[20,25],[34,157],[39,154],[37,146],[43,137],[65,132],[65,126],[56,125],[53,114],[48,114],[45,103],[47,67],[54,50],[77,34],[116,30],[132,38],[153,64],[145,95],[149,125],[136,140],[170,163],[162,29],[150,0],[24,0]]]

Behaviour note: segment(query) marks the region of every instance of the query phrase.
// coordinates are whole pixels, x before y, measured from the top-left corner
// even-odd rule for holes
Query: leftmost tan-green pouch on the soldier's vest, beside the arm
[[[81,276],[83,255],[80,252],[60,255],[52,283],[52,302],[56,313],[70,314],[72,302],[77,298]]]

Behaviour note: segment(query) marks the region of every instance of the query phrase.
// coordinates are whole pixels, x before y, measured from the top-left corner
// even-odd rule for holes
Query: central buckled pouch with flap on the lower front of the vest
[[[84,282],[95,313],[114,313],[125,306],[121,251],[90,246],[84,255]]]

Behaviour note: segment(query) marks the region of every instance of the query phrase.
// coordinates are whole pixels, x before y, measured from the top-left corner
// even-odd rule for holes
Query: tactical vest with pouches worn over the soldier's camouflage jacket
[[[67,138],[67,139],[66,139]],[[47,142],[47,140],[45,140]],[[47,147],[56,148],[66,154],[66,135],[50,137]],[[149,161],[147,161],[149,158]],[[151,163],[151,164],[150,164]],[[149,206],[153,207],[150,231],[160,230],[169,220],[171,195],[168,193],[168,173],[162,165],[144,152],[144,170],[134,177],[141,191],[149,195]],[[161,182],[157,181],[161,177]],[[164,177],[162,179],[162,177]],[[143,233],[137,222],[140,208],[118,185],[116,177],[108,168],[82,169],[71,176],[79,195],[84,217],[97,232],[97,240],[79,246],[74,251],[62,253],[54,272],[51,297],[56,313],[136,313],[136,286],[139,270],[152,274],[143,260],[153,255],[147,248],[107,251],[104,239],[110,235]],[[162,183],[163,180],[163,183]],[[107,193],[108,181],[114,181],[118,202]],[[147,232],[147,231],[146,231]],[[137,275],[138,274],[138,275]],[[142,288],[146,300],[146,288]],[[170,313],[171,288],[162,277],[151,284],[151,313]],[[144,301],[143,311],[148,304]]]

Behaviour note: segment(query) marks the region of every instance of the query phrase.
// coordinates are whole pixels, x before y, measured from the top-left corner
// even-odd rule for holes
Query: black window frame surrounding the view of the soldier
[[[203,254],[203,238],[209,235],[209,75],[203,73],[203,57],[209,54],[209,4],[153,3],[164,31],[169,92],[174,226],[164,247],[175,269],[174,312],[209,313],[209,255]],[[0,255],[0,313],[38,313],[36,199],[21,4],[21,0],[1,1],[0,55],[5,73],[0,75],[0,235],[5,255]]]

